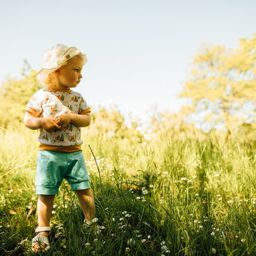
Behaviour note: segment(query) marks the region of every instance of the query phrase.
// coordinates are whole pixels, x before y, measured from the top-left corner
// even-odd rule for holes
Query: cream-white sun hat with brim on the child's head
[[[87,58],[85,54],[79,51],[76,47],[68,47],[63,44],[53,45],[52,49],[44,52],[43,68],[41,68],[36,75],[38,82],[47,86],[48,75],[76,55],[80,55],[83,65],[85,65]]]

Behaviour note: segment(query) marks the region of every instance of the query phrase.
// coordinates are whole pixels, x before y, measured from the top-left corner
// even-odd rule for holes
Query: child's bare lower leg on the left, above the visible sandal
[[[53,202],[55,195],[39,195],[37,201],[37,218],[39,227],[50,227]],[[41,236],[48,236],[47,231],[40,232]]]

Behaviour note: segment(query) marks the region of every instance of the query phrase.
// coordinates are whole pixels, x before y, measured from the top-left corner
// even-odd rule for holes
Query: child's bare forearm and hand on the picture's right
[[[89,126],[91,123],[91,115],[90,113],[86,113],[83,115],[74,113],[62,114],[55,118],[55,123],[61,127],[64,127],[69,123],[74,124],[77,127],[86,127]]]

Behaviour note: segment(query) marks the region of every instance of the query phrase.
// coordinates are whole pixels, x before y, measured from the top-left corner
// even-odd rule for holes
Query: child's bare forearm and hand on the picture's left
[[[26,112],[24,124],[31,130],[43,129],[46,132],[55,132],[60,129],[60,126],[50,118],[37,118]]]

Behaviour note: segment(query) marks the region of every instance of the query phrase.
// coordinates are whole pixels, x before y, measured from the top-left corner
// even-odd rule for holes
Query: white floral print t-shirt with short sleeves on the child
[[[82,95],[72,90],[57,91],[51,88],[43,88],[37,91],[29,100],[26,111],[41,118],[53,118],[62,114],[86,114],[90,112],[89,106]],[[83,143],[81,128],[69,123],[56,132],[46,132],[40,129],[39,142],[43,145],[69,147]],[[46,147],[47,148],[47,147]]]

